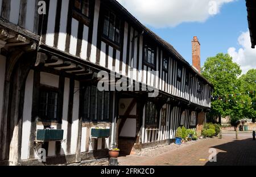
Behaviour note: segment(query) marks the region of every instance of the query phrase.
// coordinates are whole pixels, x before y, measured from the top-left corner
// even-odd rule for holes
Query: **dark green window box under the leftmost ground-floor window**
[[[37,130],[36,140],[39,141],[58,141],[63,140],[64,130],[43,129]]]

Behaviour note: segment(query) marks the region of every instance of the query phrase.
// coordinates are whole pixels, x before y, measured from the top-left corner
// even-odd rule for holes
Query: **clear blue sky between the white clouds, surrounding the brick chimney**
[[[217,53],[227,53],[228,48],[239,48],[238,37],[248,29],[245,1],[234,1],[221,7],[220,13],[206,22],[181,23],[173,28],[148,26],[192,64],[191,40],[197,36],[201,43],[201,65]]]

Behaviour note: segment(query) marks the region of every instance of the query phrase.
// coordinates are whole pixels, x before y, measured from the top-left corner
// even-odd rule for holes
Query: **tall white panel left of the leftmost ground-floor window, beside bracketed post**
[[[20,154],[20,158],[22,160],[29,158],[29,149],[30,149],[29,141],[30,141],[32,97],[33,97],[33,78],[34,78],[34,71],[30,70],[30,73],[28,73],[28,76],[27,76],[27,81],[25,86],[25,95],[24,95],[23,120],[22,120],[22,145],[21,145],[21,154]]]

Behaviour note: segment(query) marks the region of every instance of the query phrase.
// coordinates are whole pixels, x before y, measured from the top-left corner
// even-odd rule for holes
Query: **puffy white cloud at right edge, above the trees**
[[[238,37],[240,49],[230,47],[228,53],[233,57],[233,61],[241,66],[242,74],[245,74],[249,69],[256,69],[256,49],[251,48],[250,32],[242,32]]]

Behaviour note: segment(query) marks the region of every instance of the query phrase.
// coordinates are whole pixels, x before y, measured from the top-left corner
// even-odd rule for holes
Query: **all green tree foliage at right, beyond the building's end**
[[[229,54],[219,53],[215,57],[209,57],[202,68],[202,74],[214,86],[213,95],[219,95],[218,99],[212,101],[210,116],[230,116],[239,119],[254,118],[255,107],[251,104],[255,95],[236,93],[255,90],[256,71],[250,70],[241,75],[238,64],[232,61]],[[236,118],[237,119],[237,118]]]

